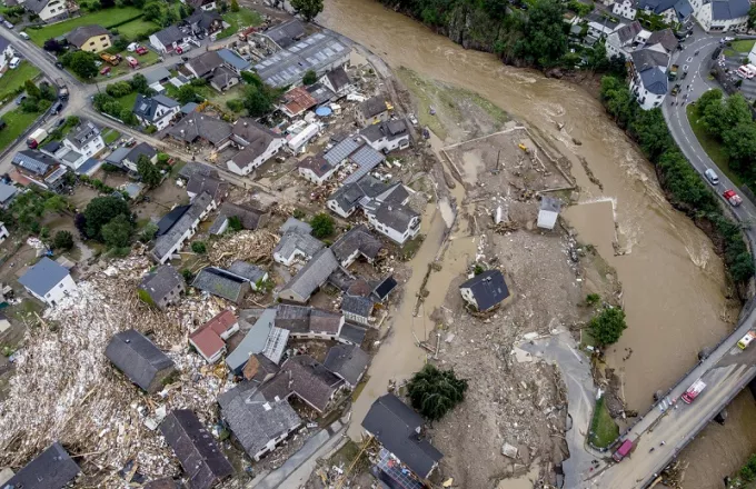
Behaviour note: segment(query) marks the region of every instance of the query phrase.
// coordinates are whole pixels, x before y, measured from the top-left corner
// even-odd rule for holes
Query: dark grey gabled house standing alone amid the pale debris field
[[[136,329],[116,333],[105,349],[105,356],[148,393],[162,390],[165,381],[176,371],[173,360]]]

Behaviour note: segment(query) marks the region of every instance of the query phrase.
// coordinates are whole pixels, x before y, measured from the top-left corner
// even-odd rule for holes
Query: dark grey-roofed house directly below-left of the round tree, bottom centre
[[[428,440],[420,439],[417,430],[421,426],[420,415],[392,393],[376,399],[362,420],[362,428],[380,445],[415,473],[426,478],[444,455]]]

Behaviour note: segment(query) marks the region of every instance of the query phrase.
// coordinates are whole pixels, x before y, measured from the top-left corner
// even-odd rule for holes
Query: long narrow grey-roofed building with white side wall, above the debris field
[[[216,208],[212,197],[202,192],[192,199],[190,206],[180,206],[166,214],[158,222],[158,234],[150,250],[152,259],[158,263],[170,260],[195,236],[200,221]]]

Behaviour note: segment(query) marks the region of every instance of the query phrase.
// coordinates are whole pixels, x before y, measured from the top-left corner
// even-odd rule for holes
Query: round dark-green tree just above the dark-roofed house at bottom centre
[[[441,419],[465,400],[467,380],[458,379],[454,370],[439,370],[426,363],[407,383],[412,407],[431,421]]]

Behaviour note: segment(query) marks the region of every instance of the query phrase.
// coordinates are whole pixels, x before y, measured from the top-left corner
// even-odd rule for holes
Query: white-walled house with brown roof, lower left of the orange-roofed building
[[[231,141],[240,149],[226,166],[237,174],[250,174],[276,156],[286,139],[249,118],[239,119],[231,129]]]

